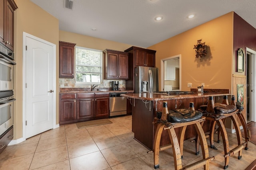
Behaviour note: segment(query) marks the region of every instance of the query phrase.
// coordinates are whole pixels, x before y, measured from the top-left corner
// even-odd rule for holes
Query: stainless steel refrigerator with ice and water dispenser
[[[138,66],[135,68],[135,93],[158,91],[158,68]]]

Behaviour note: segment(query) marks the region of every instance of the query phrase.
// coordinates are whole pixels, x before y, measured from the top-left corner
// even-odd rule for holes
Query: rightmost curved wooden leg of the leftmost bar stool
[[[203,130],[202,125],[200,123],[196,123],[196,124],[194,124],[194,126],[196,128],[196,132],[197,132],[198,137],[200,139],[203,159],[205,160],[209,157],[209,150],[208,150],[208,144],[207,144],[207,141],[206,141],[204,130]],[[206,164],[204,165],[204,170],[209,170],[209,167],[210,167],[210,163],[206,162]]]

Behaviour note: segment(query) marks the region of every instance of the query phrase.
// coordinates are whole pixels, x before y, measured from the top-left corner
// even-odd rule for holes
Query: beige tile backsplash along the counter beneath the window
[[[97,84],[99,88],[111,88],[111,82],[116,80],[103,80],[103,84]],[[125,88],[125,80],[118,80],[119,88]],[[59,88],[91,88],[92,84],[76,84],[75,78],[59,78]]]

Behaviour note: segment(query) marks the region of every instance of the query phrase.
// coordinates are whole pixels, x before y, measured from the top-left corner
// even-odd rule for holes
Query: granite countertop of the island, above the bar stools
[[[174,100],[174,99],[188,99],[188,98],[202,98],[209,96],[224,96],[231,95],[230,93],[194,93],[194,94],[180,94],[180,95],[160,95],[153,93],[136,93],[136,94],[121,94],[121,96],[140,100]]]

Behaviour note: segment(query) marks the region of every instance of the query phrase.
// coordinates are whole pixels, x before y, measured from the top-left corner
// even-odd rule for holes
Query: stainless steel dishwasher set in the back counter
[[[110,116],[126,115],[126,97],[120,96],[126,92],[110,93]]]

